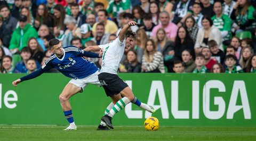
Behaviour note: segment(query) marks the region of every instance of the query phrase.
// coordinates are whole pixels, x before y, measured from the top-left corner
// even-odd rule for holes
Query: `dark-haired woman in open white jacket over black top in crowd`
[[[210,16],[204,16],[202,19],[203,28],[199,29],[195,43],[195,53],[201,52],[202,47],[207,47],[207,42],[214,40],[218,44],[218,48],[223,51],[222,48],[222,36],[218,28],[214,27]]]

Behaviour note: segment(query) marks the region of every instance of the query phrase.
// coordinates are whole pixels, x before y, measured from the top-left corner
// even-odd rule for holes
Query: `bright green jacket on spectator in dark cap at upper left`
[[[38,38],[36,29],[31,27],[29,23],[23,29],[23,36],[21,36],[21,31],[20,27],[13,31],[9,49],[19,48],[19,50],[21,50],[23,47],[27,46],[30,38]]]

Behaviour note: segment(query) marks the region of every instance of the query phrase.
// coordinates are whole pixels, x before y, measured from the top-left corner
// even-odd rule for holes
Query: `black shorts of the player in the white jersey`
[[[107,96],[118,94],[128,85],[116,74],[100,73],[99,81],[102,84]]]

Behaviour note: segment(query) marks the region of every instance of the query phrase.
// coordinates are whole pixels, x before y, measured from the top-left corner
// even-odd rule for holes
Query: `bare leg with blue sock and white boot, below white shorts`
[[[67,127],[65,130],[76,130],[76,125],[74,122],[71,105],[69,103],[69,98],[71,98],[71,96],[75,95],[80,91],[81,87],[78,87],[72,83],[68,83],[59,96],[62,110],[70,124],[69,127]]]

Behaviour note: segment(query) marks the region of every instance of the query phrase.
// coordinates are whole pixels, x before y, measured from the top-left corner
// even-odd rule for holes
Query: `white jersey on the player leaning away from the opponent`
[[[117,74],[119,63],[124,55],[125,40],[121,42],[119,38],[116,38],[99,47],[103,50],[100,73]]]

